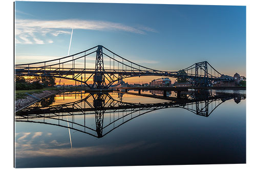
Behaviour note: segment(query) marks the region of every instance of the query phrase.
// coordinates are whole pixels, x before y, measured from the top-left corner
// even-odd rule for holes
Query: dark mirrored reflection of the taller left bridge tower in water
[[[95,109],[95,124],[96,124],[96,132],[98,137],[102,137],[102,129],[103,129],[103,115],[105,110],[102,109],[104,107],[105,100],[103,99],[102,94],[96,94],[96,97],[93,95],[93,106]]]

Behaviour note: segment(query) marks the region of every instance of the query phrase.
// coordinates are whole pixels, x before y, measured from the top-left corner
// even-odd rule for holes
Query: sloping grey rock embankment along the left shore
[[[46,98],[50,95],[59,93],[59,90],[44,90],[41,93],[32,93],[31,95],[27,95],[24,99],[15,100],[15,111],[19,111],[42,98]]]

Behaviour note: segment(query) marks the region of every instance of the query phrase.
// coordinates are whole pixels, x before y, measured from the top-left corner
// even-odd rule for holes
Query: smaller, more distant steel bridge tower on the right
[[[201,75],[201,73],[199,74],[199,70],[203,71],[203,79],[199,80],[199,75]],[[196,72],[195,72],[195,76],[198,77],[198,80],[196,81],[196,86],[208,86],[209,85],[209,78],[208,78],[208,69],[207,69],[207,61],[204,62],[200,62],[200,63],[196,63]]]

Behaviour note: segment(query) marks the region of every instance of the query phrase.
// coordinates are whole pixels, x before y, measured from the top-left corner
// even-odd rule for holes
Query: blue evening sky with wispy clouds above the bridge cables
[[[246,76],[246,7],[15,2],[16,63],[44,61],[101,44],[160,70],[208,61]]]

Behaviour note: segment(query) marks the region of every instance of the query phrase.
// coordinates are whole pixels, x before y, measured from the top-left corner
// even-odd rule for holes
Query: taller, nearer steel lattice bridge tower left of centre
[[[93,85],[91,88],[106,88],[104,72],[102,45],[98,45],[96,51],[95,74],[93,76]]]

